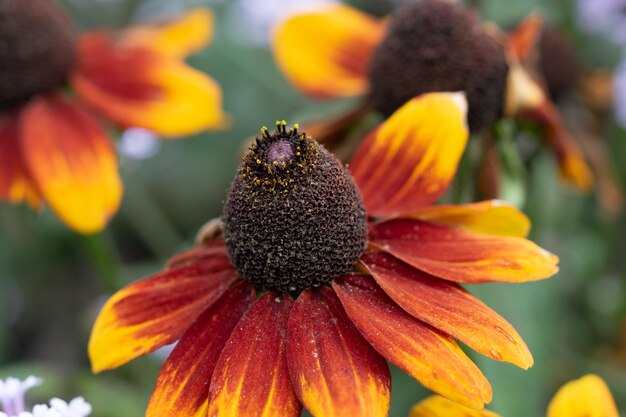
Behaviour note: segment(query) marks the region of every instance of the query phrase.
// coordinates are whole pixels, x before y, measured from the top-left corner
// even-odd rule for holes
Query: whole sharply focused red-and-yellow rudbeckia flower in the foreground
[[[386,416],[385,359],[482,407],[491,387],[455,338],[524,369],[533,359],[459,283],[546,278],[557,258],[524,238],[528,219],[505,203],[432,205],[465,149],[466,107],[460,93],[410,100],[350,171],[297,125],[262,129],[231,185],[223,237],[105,304],[93,370],[178,341],[151,417],[287,417],[302,405],[316,417]]]

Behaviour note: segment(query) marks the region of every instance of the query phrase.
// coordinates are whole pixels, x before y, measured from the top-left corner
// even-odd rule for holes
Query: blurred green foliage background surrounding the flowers
[[[190,62],[221,84],[233,124],[223,132],[156,144],[137,137],[137,132],[127,135],[120,145],[124,202],[108,230],[99,235],[73,234],[47,211],[0,205],[0,378],[42,376],[46,383],[29,393],[29,402],[83,395],[93,404],[95,417],[143,416],[166,353],[92,375],[86,344],[102,303],[121,286],[157,271],[169,255],[192,244],[204,222],[220,215],[239,152],[260,126],[276,119],[292,123],[330,115],[353,104],[308,101],[276,69],[268,49],[269,27],[300,3],[305,2],[61,2],[80,30],[123,27],[197,5],[212,8],[215,39]],[[384,15],[398,2],[351,3]],[[575,2],[471,3],[485,18],[502,25],[540,10],[570,35],[588,68],[613,69],[622,57],[607,36],[582,30]],[[610,122],[604,140],[626,181],[626,133]],[[480,155],[478,145],[474,141],[465,165]],[[464,172],[469,171],[461,170],[460,175]],[[470,288],[515,325],[535,358],[534,367],[522,371],[469,352],[492,382],[490,408],[510,417],[541,416],[558,386],[594,372],[606,379],[626,413],[624,212],[608,216],[594,196],[564,187],[545,152],[536,152],[509,180],[505,195],[522,203],[533,221],[532,238],[560,256],[561,272],[544,282]],[[456,194],[457,200],[465,198],[464,193]],[[390,415],[406,416],[428,393],[399,371],[393,371],[393,378]]]

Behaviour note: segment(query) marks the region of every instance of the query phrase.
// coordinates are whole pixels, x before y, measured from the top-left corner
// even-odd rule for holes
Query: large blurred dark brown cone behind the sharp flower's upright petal
[[[369,79],[374,107],[386,116],[419,94],[465,91],[469,126],[477,131],[501,116],[507,72],[503,47],[473,12],[422,0],[392,16]]]

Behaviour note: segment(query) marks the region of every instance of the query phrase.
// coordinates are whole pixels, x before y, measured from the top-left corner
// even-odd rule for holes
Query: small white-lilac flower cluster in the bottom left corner
[[[59,398],[50,400],[50,405],[38,404],[32,412],[26,411],[24,394],[30,388],[41,385],[41,378],[29,376],[24,381],[9,377],[0,380],[0,417],[87,417],[91,404],[82,397],[76,397],[69,404]]]

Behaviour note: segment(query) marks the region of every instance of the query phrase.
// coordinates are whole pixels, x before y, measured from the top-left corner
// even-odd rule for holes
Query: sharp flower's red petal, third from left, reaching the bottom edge
[[[300,416],[285,352],[292,305],[289,295],[267,292],[250,307],[215,367],[207,415]]]

